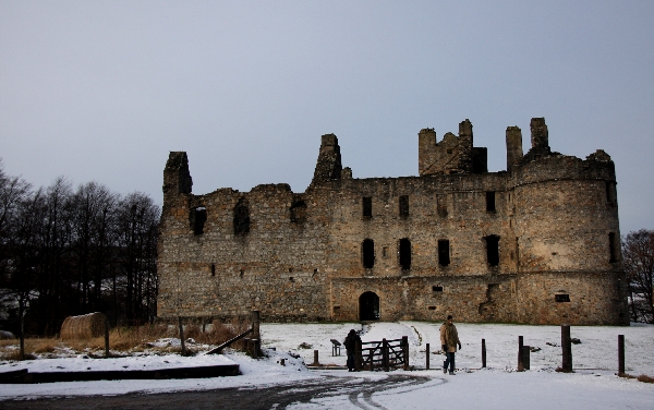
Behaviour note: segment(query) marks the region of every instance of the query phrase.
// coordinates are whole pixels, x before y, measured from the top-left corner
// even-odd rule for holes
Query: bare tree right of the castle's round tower
[[[641,229],[622,238],[622,257],[631,319],[654,323],[654,231]]]

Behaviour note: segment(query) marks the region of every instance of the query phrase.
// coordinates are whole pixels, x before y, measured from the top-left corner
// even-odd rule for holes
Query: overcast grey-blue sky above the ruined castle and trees
[[[0,157],[161,202],[170,150],[197,194],[303,192],[320,135],[354,178],[417,174],[417,132],[470,119],[614,159],[622,233],[654,229],[654,1],[4,1]]]

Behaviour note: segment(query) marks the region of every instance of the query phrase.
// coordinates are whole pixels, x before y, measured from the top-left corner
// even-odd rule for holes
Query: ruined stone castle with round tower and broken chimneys
[[[354,179],[323,135],[311,185],[192,193],[164,171],[162,318],[628,325],[614,162],[554,153],[545,119],[506,130],[488,172],[472,124],[419,137],[419,177]]]

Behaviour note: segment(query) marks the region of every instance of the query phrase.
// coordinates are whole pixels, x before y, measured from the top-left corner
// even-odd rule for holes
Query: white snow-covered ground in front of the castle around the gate
[[[463,345],[457,353],[455,376],[444,375],[438,369],[443,355],[438,323],[401,322],[375,323],[362,329],[360,324],[262,324],[263,348],[269,357],[253,360],[246,355],[228,352],[225,357],[198,354],[182,358],[174,354],[123,359],[39,359],[25,362],[0,362],[0,372],[29,369],[31,372],[65,370],[122,370],[160,369],[161,366],[197,366],[233,361],[240,365],[242,376],[170,381],[107,381],[73,382],[40,385],[0,385],[0,400],[49,396],[120,395],[125,393],[161,393],[175,390],[204,390],[222,387],[265,387],[280,383],[301,384],[307,379],[337,376],[361,379],[379,379],[384,372],[348,373],[347,370],[310,371],[304,364],[313,362],[313,350],[319,351],[322,364],[343,365],[341,357],[331,357],[329,339],[343,340],[349,329],[362,330],[362,339],[398,339],[408,336],[410,362],[424,369],[425,343],[431,343],[431,371],[410,374],[428,376],[431,382],[407,385],[375,393],[372,397],[351,399],[351,395],[332,395],[315,398],[311,403],[299,403],[294,409],[434,409],[456,406],[462,409],[654,409],[654,385],[620,378],[617,372],[618,335],[626,338],[627,373],[654,376],[654,326],[633,324],[630,327],[584,326],[572,327],[571,336],[581,340],[572,346],[576,372],[562,374],[554,371],[560,366],[560,327],[496,324],[457,324]],[[524,343],[540,351],[531,353],[531,371],[518,373],[518,336]],[[481,340],[486,340],[487,369],[481,370]],[[311,346],[311,348],[300,348]],[[552,346],[555,345],[555,346]],[[275,350],[272,350],[275,348]],[[299,357],[295,359],[294,357]],[[280,359],[286,360],[281,366]],[[64,371],[64,370],[61,370]],[[402,371],[397,371],[402,372]],[[395,373],[395,372],[393,372]],[[1,407],[1,406],[0,406]]]

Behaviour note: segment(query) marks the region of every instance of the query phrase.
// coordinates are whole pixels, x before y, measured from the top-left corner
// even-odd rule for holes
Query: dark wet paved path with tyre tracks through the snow
[[[387,378],[324,376],[270,387],[237,387],[169,394],[129,394],[122,396],[53,397],[36,400],[0,401],[2,409],[286,409],[292,403],[313,403],[318,408],[341,407],[343,400],[361,409],[385,409],[373,394],[401,387],[421,388],[427,382],[445,383],[424,376],[390,374]],[[433,385],[429,383],[429,385]],[[425,386],[426,387],[426,386]],[[338,406],[337,402],[341,405]]]

